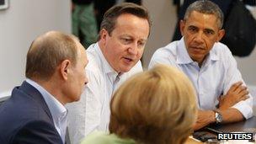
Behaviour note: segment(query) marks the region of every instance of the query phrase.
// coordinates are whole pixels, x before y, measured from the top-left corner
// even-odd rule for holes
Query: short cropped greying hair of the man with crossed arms
[[[221,11],[221,8],[219,8],[219,6],[216,5],[216,3],[213,3],[209,0],[195,1],[194,3],[191,3],[187,8],[186,13],[184,14],[184,19],[188,19],[190,13],[192,13],[193,11],[199,13],[214,14],[219,23],[218,27],[220,29],[222,28],[224,15]]]

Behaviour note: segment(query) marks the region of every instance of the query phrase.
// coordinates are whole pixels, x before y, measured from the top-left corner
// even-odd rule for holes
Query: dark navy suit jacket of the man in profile
[[[0,143],[63,143],[45,99],[29,83],[13,88],[0,107]]]

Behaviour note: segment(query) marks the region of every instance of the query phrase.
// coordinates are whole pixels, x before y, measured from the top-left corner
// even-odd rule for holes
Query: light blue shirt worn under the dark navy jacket
[[[65,135],[67,129],[67,109],[57,100],[51,93],[48,93],[45,88],[42,88],[38,83],[27,78],[26,82],[35,87],[45,99],[45,103],[50,109],[51,116],[56,128],[56,131],[61,136],[63,143],[65,143]]]

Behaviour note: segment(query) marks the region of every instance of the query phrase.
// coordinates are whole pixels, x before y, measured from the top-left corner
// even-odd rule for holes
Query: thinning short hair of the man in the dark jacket
[[[25,75],[28,78],[49,79],[63,60],[77,63],[77,38],[51,31],[40,35],[29,47]]]

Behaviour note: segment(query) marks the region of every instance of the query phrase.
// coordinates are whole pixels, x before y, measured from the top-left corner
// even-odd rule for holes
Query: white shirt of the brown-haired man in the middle
[[[75,144],[92,131],[108,131],[112,93],[127,78],[136,72],[142,72],[141,61],[138,61],[129,72],[119,76],[106,61],[98,43],[88,47],[87,55],[88,84],[78,102],[67,104],[68,130],[71,141]]]

